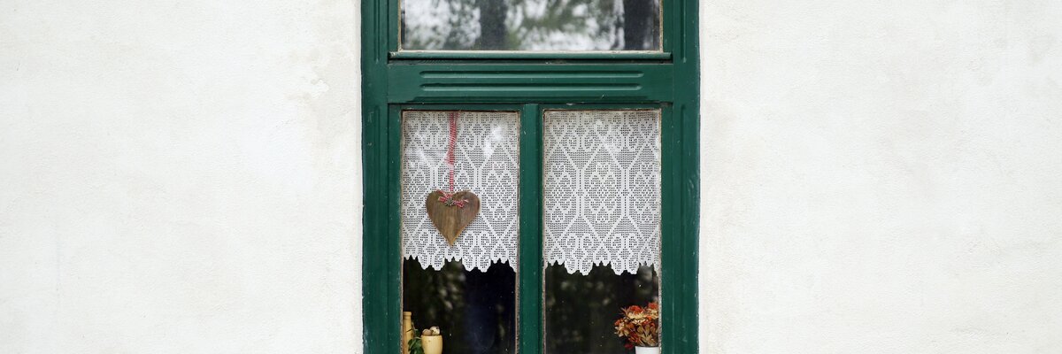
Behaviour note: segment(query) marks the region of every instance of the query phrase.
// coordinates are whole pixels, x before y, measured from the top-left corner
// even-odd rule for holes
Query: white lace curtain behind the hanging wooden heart
[[[449,113],[402,113],[402,254],[424,268],[460,260],[465,269],[486,271],[495,262],[517,268],[519,218],[519,116],[515,112],[461,112],[455,146],[455,190],[480,199],[479,216],[450,247],[428,219],[424,201],[449,188],[446,150]]]

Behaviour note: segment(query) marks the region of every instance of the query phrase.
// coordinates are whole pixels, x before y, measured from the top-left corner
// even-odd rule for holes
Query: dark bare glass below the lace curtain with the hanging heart
[[[413,313],[418,330],[438,325],[443,353],[515,353],[516,273],[508,264],[485,272],[466,271],[460,262],[442,270],[402,262],[402,310]]]

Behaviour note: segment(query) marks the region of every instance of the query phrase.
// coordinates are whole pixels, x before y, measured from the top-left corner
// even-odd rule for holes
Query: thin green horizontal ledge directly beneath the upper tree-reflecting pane
[[[393,60],[655,60],[671,58],[668,52],[649,51],[586,51],[586,52],[533,52],[533,51],[398,51],[389,55]]]

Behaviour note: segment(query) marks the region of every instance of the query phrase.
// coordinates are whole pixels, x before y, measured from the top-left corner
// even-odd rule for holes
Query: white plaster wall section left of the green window
[[[359,352],[356,7],[0,2],[0,353]]]

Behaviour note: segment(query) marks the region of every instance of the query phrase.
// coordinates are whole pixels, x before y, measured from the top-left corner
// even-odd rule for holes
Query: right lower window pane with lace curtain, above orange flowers
[[[622,308],[658,301],[660,111],[547,111],[545,303],[549,353],[626,353]],[[653,306],[655,306],[654,304]],[[658,324],[645,347],[658,344]]]

